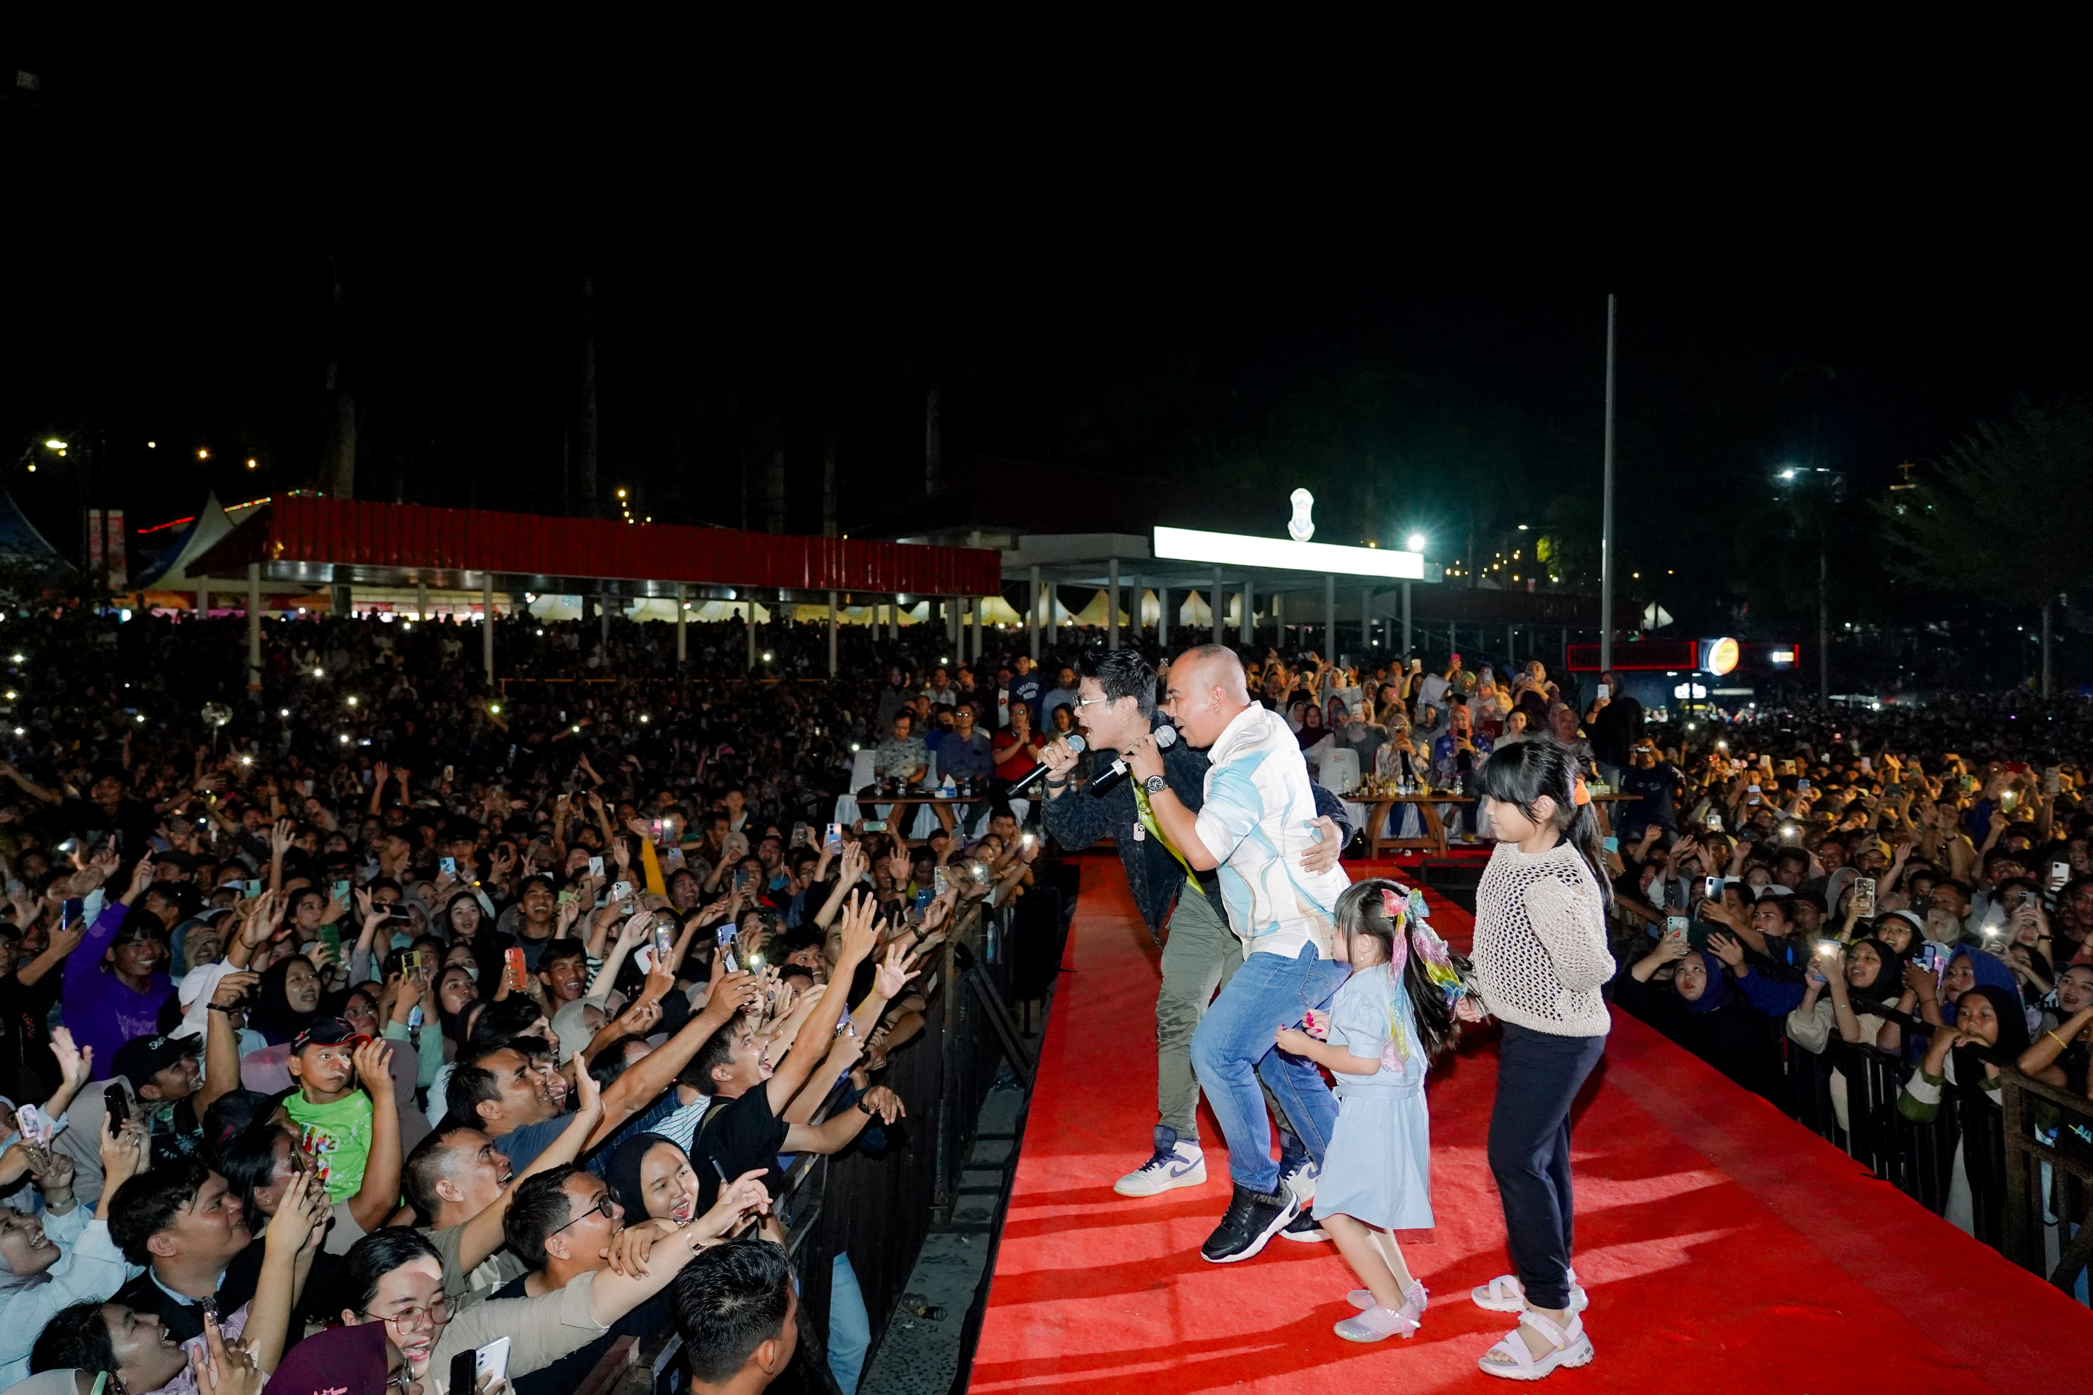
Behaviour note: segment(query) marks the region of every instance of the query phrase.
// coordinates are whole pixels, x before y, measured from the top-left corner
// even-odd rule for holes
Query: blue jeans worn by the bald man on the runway
[[[1273,1035],[1281,1027],[1300,1027],[1308,1008],[1327,1004],[1348,973],[1335,960],[1316,958],[1314,945],[1302,945],[1291,960],[1252,952],[1199,1019],[1191,1037],[1191,1069],[1229,1140],[1229,1175],[1237,1186],[1258,1192],[1279,1186],[1273,1123],[1264,1113],[1258,1077],[1279,1100],[1308,1157],[1323,1165],[1323,1148],[1337,1123],[1337,1100],[1323,1075],[1300,1056],[1273,1046]]]

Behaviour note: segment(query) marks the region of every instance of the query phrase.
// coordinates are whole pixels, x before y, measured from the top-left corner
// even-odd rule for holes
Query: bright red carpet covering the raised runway
[[[1476,1357],[1509,1328],[1467,1301],[1509,1270],[1484,1161],[1494,1048],[1434,1073],[1438,1230],[1404,1238],[1432,1288],[1413,1341],[1363,1347],[1329,1244],[1273,1240],[1210,1265],[1226,1150],[1208,1184],[1126,1200],[1155,1123],[1157,952],[1116,857],[1088,857],[973,1391],[1505,1391]],[[1358,874],[1358,872],[1354,872]],[[1436,901],[1434,922],[1469,920]],[[2093,1316],[1936,1219],[1626,1014],[1576,1125],[1578,1276],[1599,1359],[1561,1391],[2074,1391]]]

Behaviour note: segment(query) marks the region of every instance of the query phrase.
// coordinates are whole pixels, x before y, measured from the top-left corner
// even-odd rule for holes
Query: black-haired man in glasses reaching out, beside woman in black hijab
[[[661,1140],[661,1146],[680,1154],[676,1144]],[[691,1192],[695,1194],[695,1186]],[[720,1200],[705,1215],[640,1219],[640,1224],[628,1226],[626,1209],[609,1184],[571,1163],[550,1167],[517,1184],[515,1200],[502,1221],[509,1253],[525,1265],[527,1274],[490,1297],[494,1301],[534,1299],[565,1288],[582,1274],[601,1274],[603,1270],[634,1274],[647,1267],[655,1244],[670,1240],[684,1226],[699,1236],[699,1242],[707,1242],[768,1205],[770,1198],[764,1194],[762,1182],[751,1173],[722,1190]],[[670,1297],[657,1293],[613,1322],[597,1341],[569,1351],[540,1372],[515,1378],[515,1391],[517,1395],[565,1395],[594,1370],[620,1334],[645,1341],[668,1330],[672,1318]]]

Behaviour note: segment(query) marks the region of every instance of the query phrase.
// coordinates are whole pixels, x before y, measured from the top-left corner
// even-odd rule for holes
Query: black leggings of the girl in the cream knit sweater
[[[1505,1023],[1490,1111],[1490,1173],[1530,1307],[1570,1307],[1570,1104],[1605,1037],[1559,1037]]]

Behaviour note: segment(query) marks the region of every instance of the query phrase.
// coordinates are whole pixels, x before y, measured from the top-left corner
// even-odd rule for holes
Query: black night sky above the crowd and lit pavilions
[[[1679,573],[1672,609],[1735,604],[1775,466],[1863,500],[2018,393],[2093,385],[2062,96],[2083,46],[2022,38],[1995,94],[1783,73],[1614,82],[1603,109],[1559,73],[1381,102],[1331,100],[1335,75],[839,84],[647,44],[308,67],[19,40],[0,63],[42,92],[0,105],[6,485],[61,548],[80,481],[21,464],[48,433],[100,429],[90,491],[134,525],[310,485],[341,362],[360,498],[586,508],[586,278],[597,508],[628,487],[663,521],[762,527],[783,448],[793,531],[820,525],[829,452],[843,529],[877,527],[921,491],[936,385],[948,475],[1210,471],[1270,489],[1241,523],[1275,533],[1306,483],[1323,538],[1423,527],[1455,558],[1595,500],[1616,291],[1622,556]]]

